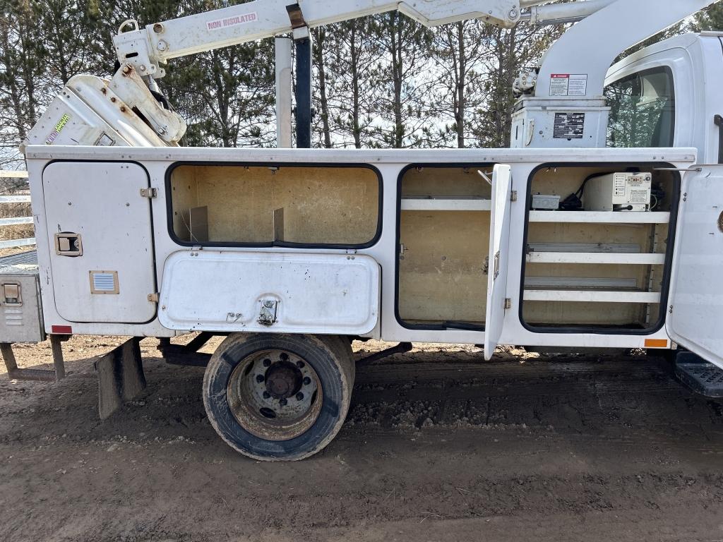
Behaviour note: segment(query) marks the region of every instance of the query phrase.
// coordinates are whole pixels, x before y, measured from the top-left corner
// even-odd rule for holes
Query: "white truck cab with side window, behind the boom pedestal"
[[[723,33],[685,34],[637,51],[609,69],[608,147],[696,147],[722,163]]]

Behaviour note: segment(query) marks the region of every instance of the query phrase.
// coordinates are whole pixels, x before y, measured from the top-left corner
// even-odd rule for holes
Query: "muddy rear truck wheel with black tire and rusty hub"
[[[296,461],[323,449],[346,418],[354,358],[343,337],[238,333],[211,356],[203,403],[241,454]]]

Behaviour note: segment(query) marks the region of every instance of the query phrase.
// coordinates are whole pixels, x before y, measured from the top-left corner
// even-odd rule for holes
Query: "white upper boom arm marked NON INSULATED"
[[[114,45],[121,64],[158,78],[163,77],[161,64],[179,56],[396,9],[426,26],[479,19],[513,27],[521,15],[517,0],[256,0],[145,28],[127,21]],[[129,25],[132,30],[123,32]]]

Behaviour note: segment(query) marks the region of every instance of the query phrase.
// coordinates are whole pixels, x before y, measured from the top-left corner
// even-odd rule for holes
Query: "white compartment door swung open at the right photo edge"
[[[683,177],[666,329],[723,369],[723,165]]]

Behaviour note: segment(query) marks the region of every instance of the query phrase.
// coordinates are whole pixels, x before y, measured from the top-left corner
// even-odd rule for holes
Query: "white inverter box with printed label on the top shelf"
[[[583,192],[586,211],[649,211],[651,173],[609,173],[589,178]]]

